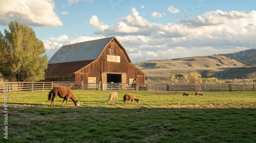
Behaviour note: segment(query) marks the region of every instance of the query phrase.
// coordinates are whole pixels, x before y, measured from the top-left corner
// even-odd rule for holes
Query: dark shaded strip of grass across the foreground
[[[74,139],[70,142],[256,140],[255,108],[126,107],[12,107],[8,131],[20,142],[61,142],[60,138]]]

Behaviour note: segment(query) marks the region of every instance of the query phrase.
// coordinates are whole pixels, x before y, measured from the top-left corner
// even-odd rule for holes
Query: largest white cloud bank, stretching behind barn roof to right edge
[[[107,25],[96,15],[89,22],[99,37],[69,38],[66,35],[44,41],[47,49],[103,37],[116,36],[132,62],[234,53],[255,49],[256,11],[209,11],[173,23],[149,22],[132,8],[116,25]]]

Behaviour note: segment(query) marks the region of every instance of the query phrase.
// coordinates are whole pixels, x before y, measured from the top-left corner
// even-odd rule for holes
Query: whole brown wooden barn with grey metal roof
[[[49,60],[46,81],[145,84],[145,74],[116,37],[63,45]]]

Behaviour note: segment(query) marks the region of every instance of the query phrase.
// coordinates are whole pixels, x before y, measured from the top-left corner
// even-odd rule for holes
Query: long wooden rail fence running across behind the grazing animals
[[[0,92],[8,88],[13,91],[44,91],[55,86],[65,86],[71,89],[93,90],[149,90],[149,91],[255,91],[256,84],[122,84],[122,83],[83,83],[81,82],[1,82]]]

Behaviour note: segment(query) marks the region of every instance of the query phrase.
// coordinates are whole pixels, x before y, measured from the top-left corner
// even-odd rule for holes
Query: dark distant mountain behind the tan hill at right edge
[[[256,49],[244,50],[232,54],[219,54],[230,58],[237,59],[246,65],[256,65]]]

